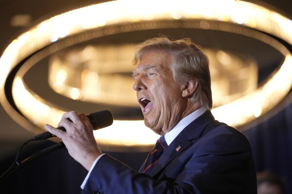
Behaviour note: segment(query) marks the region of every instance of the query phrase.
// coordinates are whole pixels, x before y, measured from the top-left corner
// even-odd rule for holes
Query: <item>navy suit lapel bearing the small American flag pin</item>
[[[207,110],[200,117],[186,126],[182,132],[178,134],[175,140],[164,150],[158,162],[154,165],[150,176],[155,176],[164,168],[171,160],[187,149],[193,142],[198,139],[203,133],[205,127],[214,121],[214,117],[210,110]]]

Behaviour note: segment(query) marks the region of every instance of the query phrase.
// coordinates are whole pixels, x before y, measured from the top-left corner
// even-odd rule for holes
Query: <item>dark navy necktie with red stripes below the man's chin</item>
[[[168,145],[165,141],[164,136],[161,136],[154,146],[154,148],[149,153],[147,159],[145,160],[143,173],[149,174],[152,170],[153,166],[157,163],[159,157],[163,153],[163,149],[166,148]]]

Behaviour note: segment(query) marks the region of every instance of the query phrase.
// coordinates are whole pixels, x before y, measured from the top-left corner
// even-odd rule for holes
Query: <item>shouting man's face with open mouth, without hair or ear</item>
[[[145,125],[159,135],[169,132],[182,118],[187,100],[171,69],[172,57],[161,52],[145,53],[133,73],[137,100]]]

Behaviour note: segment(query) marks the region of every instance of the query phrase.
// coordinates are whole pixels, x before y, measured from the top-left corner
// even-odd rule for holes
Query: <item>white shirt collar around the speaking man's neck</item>
[[[196,118],[201,116],[204,112],[208,110],[206,107],[200,107],[199,109],[195,110],[188,116],[184,117],[180,120],[173,129],[171,129],[168,133],[164,135],[165,141],[168,145],[171,144],[172,141],[176,138],[176,136],[190,123],[192,123]]]

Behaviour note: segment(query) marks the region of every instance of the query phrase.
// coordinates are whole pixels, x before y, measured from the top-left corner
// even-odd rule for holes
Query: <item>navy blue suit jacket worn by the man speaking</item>
[[[164,150],[150,175],[105,155],[82,193],[256,194],[251,146],[241,132],[215,121],[208,110]]]

